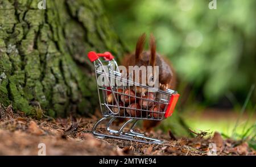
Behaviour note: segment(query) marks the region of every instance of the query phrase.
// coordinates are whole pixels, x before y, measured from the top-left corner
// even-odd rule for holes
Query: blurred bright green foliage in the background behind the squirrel
[[[228,97],[243,103],[255,84],[256,1],[105,0],[118,35],[134,51],[139,35],[154,34],[158,52],[172,61],[180,87],[192,85],[203,102]],[[185,85],[184,85],[185,84]],[[256,93],[251,98],[253,108]],[[249,106],[250,106],[249,105]]]

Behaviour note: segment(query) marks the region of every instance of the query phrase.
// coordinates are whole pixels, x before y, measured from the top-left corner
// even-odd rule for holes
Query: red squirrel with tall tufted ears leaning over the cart
[[[159,66],[159,89],[175,89],[176,86],[176,73],[171,63],[163,56],[156,53],[156,44],[154,36],[150,36],[150,51],[143,51],[145,44],[146,34],[142,34],[136,45],[135,53],[124,57],[121,64],[126,67],[127,75],[129,75],[129,66]],[[140,74],[141,77],[141,74]],[[139,80],[141,82],[141,78]],[[137,87],[137,92],[144,93],[145,90],[140,90]],[[153,127],[157,126],[159,121],[144,120],[143,127],[145,130],[150,131]]]

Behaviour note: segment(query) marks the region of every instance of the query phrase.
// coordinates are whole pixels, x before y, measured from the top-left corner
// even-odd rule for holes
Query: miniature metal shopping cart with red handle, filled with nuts
[[[103,57],[104,59],[100,60]],[[142,85],[122,77],[117,62],[111,53],[89,52],[94,64],[98,98],[103,118],[94,124],[92,133],[97,137],[113,137],[142,143],[163,143],[162,140],[146,137],[134,130],[138,120],[162,120],[172,115],[179,98],[177,91],[166,91]],[[138,90],[146,89],[147,95]],[[113,122],[122,118],[125,123],[114,128]],[[105,123],[104,128],[100,124]]]

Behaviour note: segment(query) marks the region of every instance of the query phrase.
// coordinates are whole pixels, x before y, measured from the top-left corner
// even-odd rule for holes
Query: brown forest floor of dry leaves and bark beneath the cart
[[[176,138],[160,130],[146,135],[164,139],[164,144],[143,144],[135,141],[97,139],[91,133],[92,118],[45,118],[36,120],[11,106],[0,106],[0,155],[38,155],[39,144],[46,145],[46,155],[208,155],[210,143],[216,144],[217,155],[256,155],[244,141],[222,139],[215,132],[199,132],[193,138]],[[104,127],[100,127],[100,131]],[[139,130],[138,130],[139,131]],[[38,148],[39,147],[39,148]]]

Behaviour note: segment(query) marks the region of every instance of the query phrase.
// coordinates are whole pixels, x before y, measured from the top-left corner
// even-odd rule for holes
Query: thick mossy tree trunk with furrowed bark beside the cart
[[[88,51],[125,52],[98,0],[0,0],[0,103],[49,116],[94,112]],[[36,107],[35,107],[36,106]]]

